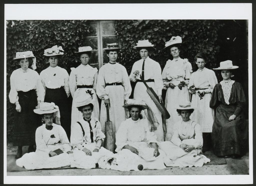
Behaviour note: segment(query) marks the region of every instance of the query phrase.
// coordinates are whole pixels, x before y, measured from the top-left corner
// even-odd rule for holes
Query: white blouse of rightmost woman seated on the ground
[[[193,143],[195,148],[203,146],[202,131],[198,123],[193,120],[180,120],[174,124],[174,132],[171,139],[173,144],[180,146],[183,140],[192,138],[195,139]]]

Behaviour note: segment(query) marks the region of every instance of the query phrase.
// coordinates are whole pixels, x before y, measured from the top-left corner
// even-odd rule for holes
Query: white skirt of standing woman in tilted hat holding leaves
[[[181,101],[190,101],[187,85],[182,87],[182,90],[178,86],[175,86],[173,89],[168,87],[165,97],[165,107],[170,114],[170,118],[165,120],[167,129],[165,141],[171,140],[174,124],[182,119],[177,113],[177,106]]]

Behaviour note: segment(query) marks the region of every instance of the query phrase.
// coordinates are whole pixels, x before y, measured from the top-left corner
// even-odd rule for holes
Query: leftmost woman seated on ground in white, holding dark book
[[[16,160],[26,169],[58,168],[70,165],[71,146],[65,130],[53,123],[60,118],[59,108],[54,103],[40,103],[36,114],[42,116],[42,126],[36,129],[36,152],[26,153]]]

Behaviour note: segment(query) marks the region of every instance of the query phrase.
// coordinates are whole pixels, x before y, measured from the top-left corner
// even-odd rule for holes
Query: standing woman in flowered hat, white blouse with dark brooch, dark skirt
[[[68,96],[70,94],[67,70],[58,66],[60,56],[64,53],[61,46],[57,45],[45,50],[44,55],[48,56],[50,66],[42,70],[40,77],[45,88],[45,102],[55,103],[59,106],[61,120],[58,118],[56,124],[63,127],[66,131],[68,139],[70,139],[70,119],[71,113],[68,108]]]

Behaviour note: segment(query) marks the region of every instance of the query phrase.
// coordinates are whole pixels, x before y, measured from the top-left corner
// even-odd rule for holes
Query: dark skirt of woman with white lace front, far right
[[[235,109],[235,105],[223,104],[220,104],[216,109],[211,136],[214,152],[217,156],[243,155],[246,151],[248,126],[242,111],[236,119],[228,120]]]

